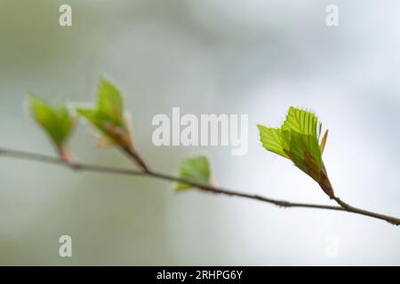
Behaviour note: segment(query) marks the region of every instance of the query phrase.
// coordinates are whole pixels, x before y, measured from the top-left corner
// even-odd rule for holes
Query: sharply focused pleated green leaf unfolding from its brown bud
[[[268,151],[291,160],[296,167],[316,180],[324,193],[333,198],[332,185],[322,160],[327,132],[321,144],[318,144],[321,123],[319,127],[317,125],[316,115],[291,106],[280,129],[258,125],[260,141]]]

